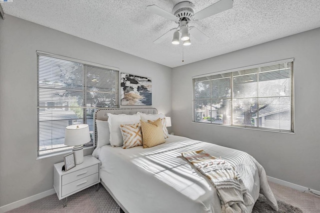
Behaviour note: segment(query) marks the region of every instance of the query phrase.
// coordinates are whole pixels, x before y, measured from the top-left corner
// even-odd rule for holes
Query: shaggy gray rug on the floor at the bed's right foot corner
[[[268,205],[263,195],[259,195],[259,198],[252,209],[252,213],[302,213],[302,211],[297,207],[293,207],[282,201],[277,201],[277,203],[279,207],[278,212],[273,210],[270,205]]]

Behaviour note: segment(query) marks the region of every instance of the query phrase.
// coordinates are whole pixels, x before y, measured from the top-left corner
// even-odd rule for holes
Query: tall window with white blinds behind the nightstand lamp
[[[94,110],[117,107],[118,72],[37,51],[39,156],[69,148],[63,144],[66,126],[84,123],[92,132]]]

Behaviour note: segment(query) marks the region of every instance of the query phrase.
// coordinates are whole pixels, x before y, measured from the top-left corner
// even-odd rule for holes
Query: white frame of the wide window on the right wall
[[[219,72],[213,72],[213,73],[207,73],[207,74],[202,74],[202,75],[196,75],[196,76],[192,76],[192,89],[193,89],[193,93],[192,93],[192,122],[193,123],[199,123],[199,124],[209,124],[209,125],[219,125],[219,126],[225,126],[225,127],[235,127],[235,128],[244,128],[244,129],[253,129],[253,130],[261,130],[261,131],[271,131],[271,132],[281,132],[281,133],[294,133],[294,69],[293,69],[293,62],[294,62],[294,58],[289,58],[289,59],[284,59],[284,60],[279,60],[279,61],[273,61],[273,62],[268,62],[268,63],[262,63],[262,64],[256,64],[256,65],[251,65],[251,66],[246,66],[246,67],[240,67],[240,68],[235,68],[235,69],[230,69],[230,70],[223,70],[223,71],[219,71]],[[233,101],[234,99],[236,99],[236,97],[234,97],[233,94],[233,78],[234,76],[232,75],[232,73],[234,72],[239,72],[239,71],[245,71],[245,70],[249,70],[249,69],[256,69],[256,68],[261,68],[261,67],[267,67],[267,66],[274,66],[274,65],[279,65],[282,63],[291,63],[291,67],[290,69],[290,86],[291,86],[291,90],[290,90],[290,95],[289,95],[289,99],[290,99],[290,130],[284,130],[284,129],[273,129],[273,128],[265,128],[265,127],[254,127],[254,126],[245,126],[245,125],[236,125],[233,124]],[[210,123],[206,123],[206,122],[200,122],[200,121],[196,121],[196,115],[195,115],[195,109],[196,109],[196,101],[200,100],[200,99],[196,99],[195,94],[195,83],[196,82],[204,82],[205,80],[195,80],[195,79],[204,79],[204,78],[208,78],[210,81],[212,81],[214,79],[214,76],[216,75],[229,75],[230,77],[230,89],[231,89],[231,94],[229,98],[223,98],[223,99],[230,99],[230,107],[229,110],[231,111],[231,121],[230,124],[218,124],[218,123],[212,123],[212,121],[210,121]],[[211,77],[211,78],[210,78]],[[220,78],[222,79],[222,77]],[[212,88],[210,87],[210,90],[212,91]],[[258,91],[258,90],[257,90]],[[281,96],[278,96],[281,97]],[[257,94],[257,98],[259,98],[259,95]],[[261,97],[260,97],[261,98]],[[262,98],[265,98],[262,96]],[[205,98],[203,98],[205,99]],[[222,98],[221,98],[222,99]],[[238,98],[239,99],[239,98]],[[212,105],[212,95],[210,94],[210,98],[208,98],[208,100],[210,100],[210,105]],[[212,106],[210,106],[211,109]],[[212,109],[210,110],[212,111]],[[212,118],[212,114],[210,116]],[[257,117],[257,121],[259,122],[259,116]],[[262,118],[262,117],[261,117]],[[280,120],[279,120],[280,121]]]

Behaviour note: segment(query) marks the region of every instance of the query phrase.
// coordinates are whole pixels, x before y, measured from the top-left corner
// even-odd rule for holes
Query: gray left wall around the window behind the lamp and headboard
[[[6,15],[0,19],[0,206],[52,189],[53,164],[63,160],[36,160],[36,50],[151,77],[152,107],[171,113],[171,68]]]

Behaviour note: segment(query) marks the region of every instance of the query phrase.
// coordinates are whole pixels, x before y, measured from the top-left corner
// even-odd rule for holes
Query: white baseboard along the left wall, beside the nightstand
[[[33,201],[37,201],[37,200],[39,200],[41,198],[45,198],[46,196],[53,195],[53,194],[55,194],[54,189],[50,189],[48,191],[45,191],[45,192],[30,196],[28,198],[24,198],[22,200],[13,202],[11,204],[7,204],[5,206],[0,207],[0,213],[5,213],[7,211],[13,210],[15,208],[21,207],[23,205],[29,204],[29,203],[31,203]]]

